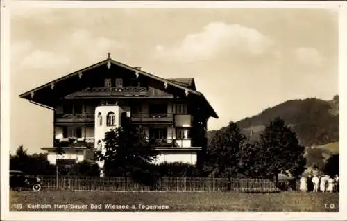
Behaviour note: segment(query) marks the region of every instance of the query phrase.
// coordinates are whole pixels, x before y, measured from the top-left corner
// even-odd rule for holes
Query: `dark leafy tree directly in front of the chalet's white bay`
[[[105,133],[105,154],[97,153],[97,157],[104,161],[105,175],[133,179],[151,175],[149,164],[158,155],[155,143],[146,139],[130,121],[122,120],[121,126]]]

